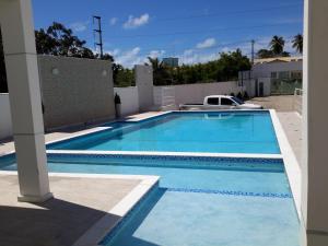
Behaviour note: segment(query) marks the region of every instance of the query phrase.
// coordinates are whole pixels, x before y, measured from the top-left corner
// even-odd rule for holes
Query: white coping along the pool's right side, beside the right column
[[[276,109],[269,109],[276,137],[280,147],[285,174],[293,194],[293,200],[297,212],[298,220],[302,219],[301,211],[301,168],[296,160],[295,153],[285,136],[282,125],[279,120]]]

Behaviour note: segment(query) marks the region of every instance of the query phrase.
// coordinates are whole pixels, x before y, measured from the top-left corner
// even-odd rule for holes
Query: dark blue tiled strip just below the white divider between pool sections
[[[243,159],[186,155],[137,155],[137,154],[71,154],[49,153],[48,161],[70,164],[126,165],[177,168],[238,168],[251,172],[284,172],[281,159]],[[136,162],[139,161],[139,162]],[[118,162],[118,163],[115,163]]]

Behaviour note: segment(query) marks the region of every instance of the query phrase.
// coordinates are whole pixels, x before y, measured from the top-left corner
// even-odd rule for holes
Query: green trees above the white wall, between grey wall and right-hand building
[[[220,58],[207,63],[183,65],[176,68],[165,66],[159,58],[149,57],[148,66],[153,68],[154,85],[174,85],[191,83],[209,83],[216,81],[237,80],[238,72],[250,69],[250,61],[237,49],[222,52]],[[113,65],[115,86],[134,85],[133,70],[120,65]]]

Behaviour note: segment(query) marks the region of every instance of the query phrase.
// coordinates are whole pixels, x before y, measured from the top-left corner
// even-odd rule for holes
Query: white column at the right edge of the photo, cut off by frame
[[[328,245],[328,1],[305,0],[302,244]]]

